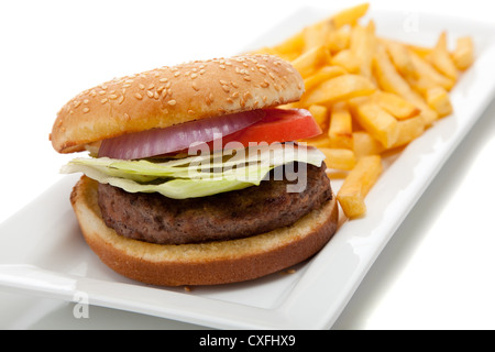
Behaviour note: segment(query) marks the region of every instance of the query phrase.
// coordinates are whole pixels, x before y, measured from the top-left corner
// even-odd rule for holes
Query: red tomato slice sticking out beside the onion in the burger
[[[310,139],[322,133],[320,127],[305,109],[264,109],[266,116],[254,124],[226,135],[222,146],[239,142],[244,146],[251,143],[289,142]]]

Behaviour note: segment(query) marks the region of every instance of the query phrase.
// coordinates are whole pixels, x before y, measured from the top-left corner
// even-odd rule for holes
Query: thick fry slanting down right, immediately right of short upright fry
[[[398,123],[392,114],[372,99],[352,99],[350,105],[354,112],[353,117],[374,139],[385,147],[395,144],[398,138]]]

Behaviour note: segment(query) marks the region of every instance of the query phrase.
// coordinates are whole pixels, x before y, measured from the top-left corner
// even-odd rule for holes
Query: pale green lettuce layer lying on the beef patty
[[[61,173],[82,173],[129,193],[160,193],[184,199],[260,185],[277,166],[301,162],[319,167],[323,160],[324,154],[315,147],[262,144],[169,161],[79,157],[64,165]]]

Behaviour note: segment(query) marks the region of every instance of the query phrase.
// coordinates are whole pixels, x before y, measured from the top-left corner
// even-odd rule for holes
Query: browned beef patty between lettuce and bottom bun
[[[287,185],[297,182],[285,173],[284,179],[273,179],[273,170],[260,186],[188,199],[100,184],[98,201],[107,226],[134,240],[183,244],[240,239],[290,226],[331,199],[324,164],[293,166],[297,174],[297,167],[307,167],[307,186],[300,193],[287,193]]]

